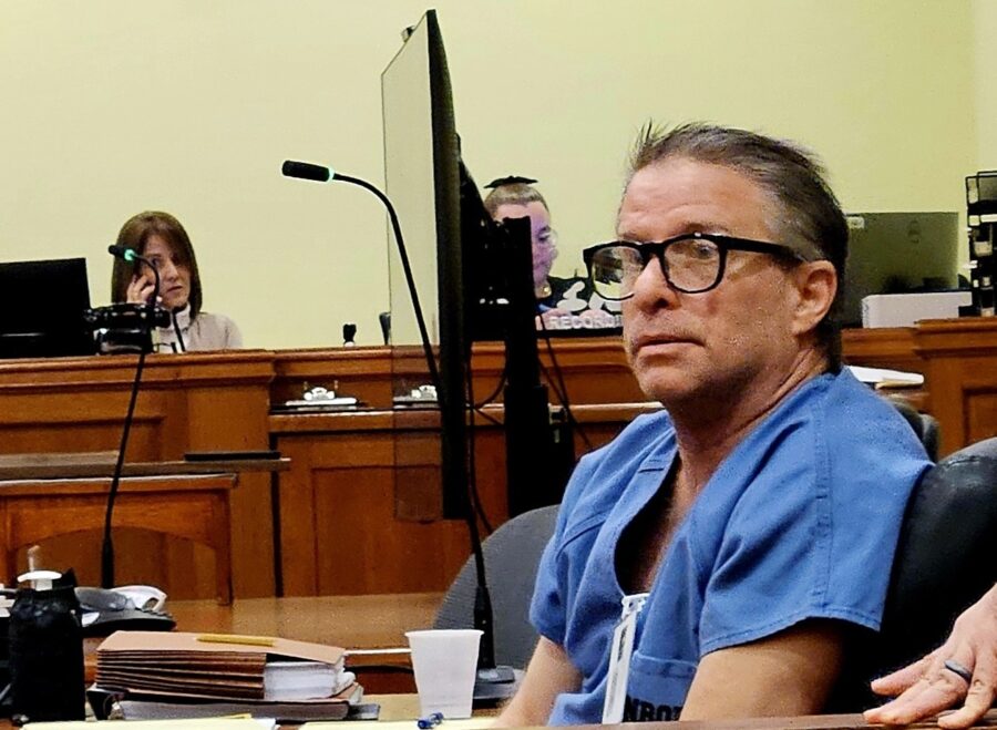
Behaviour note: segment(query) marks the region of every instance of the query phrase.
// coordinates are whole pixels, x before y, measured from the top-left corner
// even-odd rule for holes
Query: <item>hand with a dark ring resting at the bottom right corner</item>
[[[909,724],[960,701],[938,726],[955,730],[979,720],[997,696],[997,585],[956,619],[941,648],[881,677],[872,689],[896,699],[867,710],[870,723]]]

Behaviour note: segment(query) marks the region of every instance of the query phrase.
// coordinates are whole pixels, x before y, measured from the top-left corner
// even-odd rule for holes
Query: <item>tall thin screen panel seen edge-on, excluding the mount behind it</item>
[[[426,11],[405,32],[401,50],[381,74],[381,102],[384,187],[398,212],[430,342],[438,346],[443,512],[449,517],[461,517],[467,510],[464,389],[469,347],[464,328],[461,162],[450,74],[435,11]],[[405,346],[418,346],[420,336],[400,259],[393,250],[389,260],[395,395],[404,395],[421,373],[408,366],[399,368],[398,356],[407,351]],[[399,463],[412,461],[408,454],[399,453],[405,449],[407,444],[397,443]]]

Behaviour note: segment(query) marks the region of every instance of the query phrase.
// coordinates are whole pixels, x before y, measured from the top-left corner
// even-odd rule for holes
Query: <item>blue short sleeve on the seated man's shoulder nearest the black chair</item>
[[[890,438],[895,423],[882,428],[887,433],[878,439]],[[901,442],[908,435],[896,432]],[[809,618],[878,629],[903,511],[927,463],[916,444],[884,460],[875,436],[857,436],[841,449],[804,429],[758,462],[763,465],[733,503],[719,544],[699,546],[713,559],[700,656]],[[696,522],[720,520],[722,502],[705,501]]]

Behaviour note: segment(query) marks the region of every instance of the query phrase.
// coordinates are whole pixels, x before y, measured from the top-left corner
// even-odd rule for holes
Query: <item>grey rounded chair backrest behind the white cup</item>
[[[485,577],[492,597],[495,662],[525,668],[536,646],[530,600],[541,554],[557,520],[557,505],[524,512],[484,541]],[[470,628],[474,623],[477,572],[473,556],[454,578],[436,613],[434,628]]]

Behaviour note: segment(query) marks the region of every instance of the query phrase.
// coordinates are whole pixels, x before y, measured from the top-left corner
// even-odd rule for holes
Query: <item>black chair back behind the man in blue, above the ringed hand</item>
[[[953,621],[997,582],[997,438],[925,473],[904,514],[882,630],[856,641],[828,711],[882,702],[868,682],[941,646]]]

